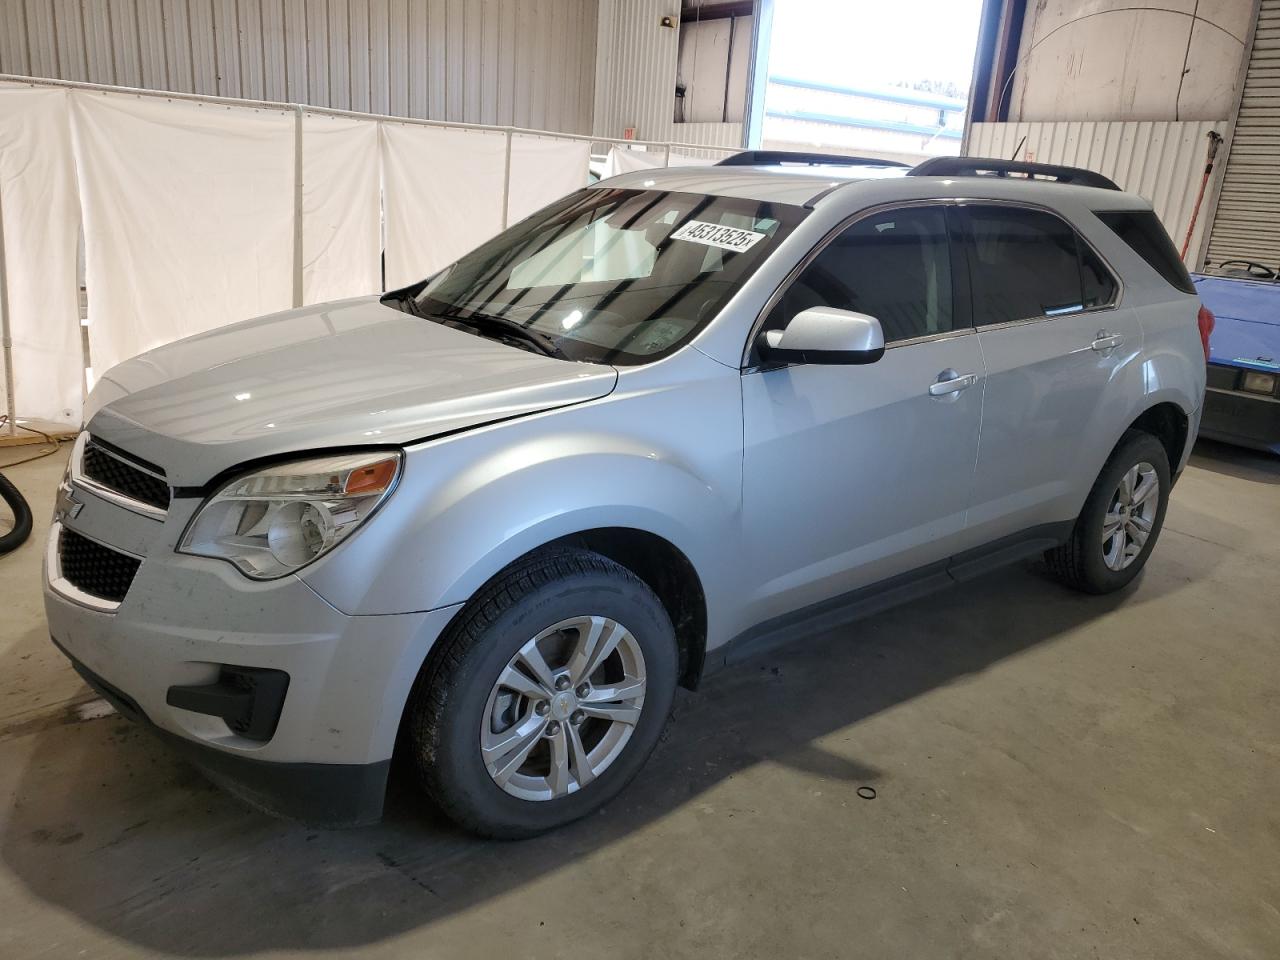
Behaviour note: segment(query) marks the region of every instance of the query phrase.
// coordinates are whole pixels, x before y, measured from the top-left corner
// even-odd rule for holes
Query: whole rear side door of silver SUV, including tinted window
[[[1076,516],[1143,393],[1142,328],[1115,273],[1057,214],[974,202],[954,216],[987,365],[978,544]]]

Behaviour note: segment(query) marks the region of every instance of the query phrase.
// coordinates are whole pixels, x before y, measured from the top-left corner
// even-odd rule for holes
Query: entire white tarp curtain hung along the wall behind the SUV
[[[302,113],[306,303],[421,279],[585,186],[590,145]],[[294,109],[0,83],[17,408],[78,422],[93,371],[293,303]],[[658,156],[658,154],[654,154]],[[504,183],[507,188],[504,189]],[[3,370],[3,366],[0,366]],[[3,383],[0,383],[3,390]]]

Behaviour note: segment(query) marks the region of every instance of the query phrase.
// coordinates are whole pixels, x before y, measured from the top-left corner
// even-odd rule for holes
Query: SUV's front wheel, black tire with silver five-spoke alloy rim
[[[415,684],[422,785],[486,837],[575,820],[644,765],[677,664],[666,609],[631,571],[589,550],[524,561],[462,609]]]

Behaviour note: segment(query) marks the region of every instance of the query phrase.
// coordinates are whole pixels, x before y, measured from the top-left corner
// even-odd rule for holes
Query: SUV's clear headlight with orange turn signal
[[[399,477],[378,451],[280,463],[232,480],[192,517],[179,553],[230,561],[273,580],[323,557],[369,520]]]

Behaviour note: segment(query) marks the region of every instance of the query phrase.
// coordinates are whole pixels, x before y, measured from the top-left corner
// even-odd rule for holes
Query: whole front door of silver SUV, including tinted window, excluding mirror
[[[887,349],[863,366],[744,374],[748,621],[945,559],[964,530],[986,371],[956,310],[945,210],[858,220],[767,319],[772,329],[812,306],[854,310],[881,321]]]

